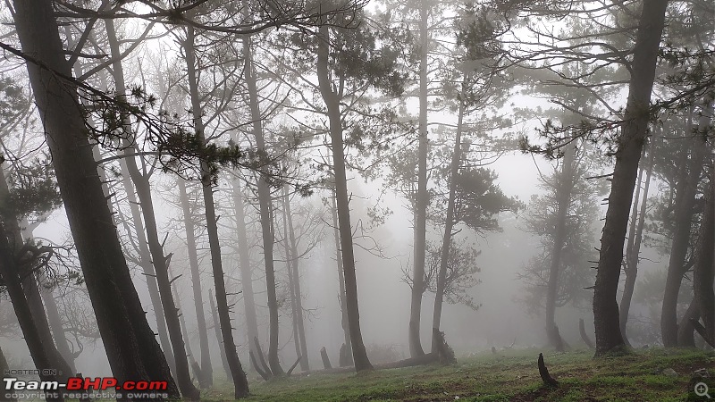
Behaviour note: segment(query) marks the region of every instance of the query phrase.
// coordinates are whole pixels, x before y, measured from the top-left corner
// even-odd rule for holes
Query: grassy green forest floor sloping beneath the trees
[[[250,381],[248,401],[684,401],[704,381],[715,398],[715,353],[639,349],[630,355],[593,358],[593,351],[547,352],[544,360],[559,387],[543,385],[538,349],[506,349],[458,358],[454,365],[423,365],[369,373],[314,373]],[[696,370],[705,369],[702,379]],[[699,372],[702,373],[703,371]],[[220,382],[202,400],[230,400]],[[715,399],[713,399],[715,401]]]

